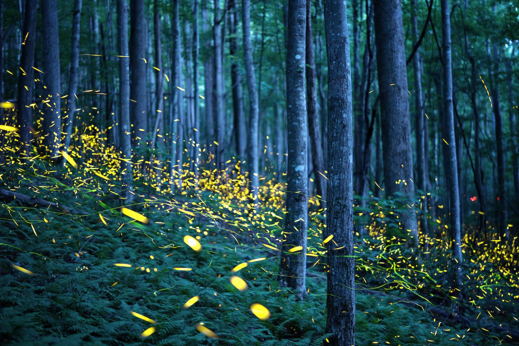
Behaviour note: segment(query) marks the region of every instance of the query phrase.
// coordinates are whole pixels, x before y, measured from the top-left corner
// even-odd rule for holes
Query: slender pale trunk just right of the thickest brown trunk
[[[452,58],[450,51],[450,6],[449,0],[441,0],[442,4],[442,56],[443,56],[443,114],[445,122],[443,127],[447,130],[447,179],[449,181],[449,206],[450,227],[454,236],[453,251],[455,258],[455,280],[456,285],[461,285],[461,225],[459,218],[459,187],[458,170],[456,160],[456,138],[454,133],[453,113],[453,75]],[[446,143],[444,143],[446,145]]]

